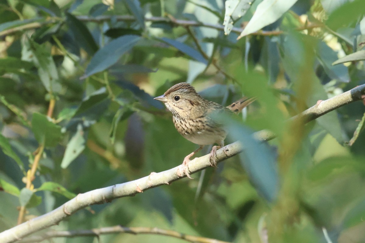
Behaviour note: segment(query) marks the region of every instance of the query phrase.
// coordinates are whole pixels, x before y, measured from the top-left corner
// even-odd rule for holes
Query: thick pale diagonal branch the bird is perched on
[[[357,86],[349,91],[346,91],[345,93],[325,101],[318,101],[316,105],[310,107],[296,117],[304,118],[304,121],[310,122],[319,116],[335,110],[343,105],[362,99],[365,99],[365,85]],[[294,119],[296,117],[294,117]],[[274,138],[272,133],[266,131],[254,133],[254,136],[261,141]],[[239,142],[228,144],[227,146],[217,150],[216,162],[219,163],[223,160],[226,160],[227,158],[233,157],[236,154],[242,152],[242,149],[242,145]],[[189,163],[189,170],[193,174],[202,169],[208,168],[209,166],[211,166],[211,163],[209,162],[209,155],[207,154],[192,160]],[[149,176],[134,181],[95,189],[93,191],[79,194],[60,207],[49,213],[46,213],[45,215],[28,220],[25,223],[1,232],[0,239],[4,243],[15,242],[16,240],[20,240],[24,236],[27,236],[31,233],[58,224],[61,220],[89,205],[107,203],[116,198],[133,196],[160,185],[169,185],[173,181],[185,177],[185,175],[182,175],[181,171],[181,165],[179,165],[167,171],[162,171],[159,173],[152,172]]]

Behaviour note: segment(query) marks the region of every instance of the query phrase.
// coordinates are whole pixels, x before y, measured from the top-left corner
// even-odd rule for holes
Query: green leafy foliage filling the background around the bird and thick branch
[[[287,121],[364,84],[363,0],[0,0],[0,13],[0,231],[19,210],[27,220],[77,193],[179,165],[197,145],[153,97],[188,81],[222,105],[257,97],[226,141],[242,140],[247,152],[53,229],[121,224],[230,242],[260,242],[267,230],[269,242],[326,242],[324,227],[332,242],[365,241],[364,105],[306,126]],[[246,25],[243,35],[254,34],[237,40]],[[250,138],[261,129],[277,138]]]

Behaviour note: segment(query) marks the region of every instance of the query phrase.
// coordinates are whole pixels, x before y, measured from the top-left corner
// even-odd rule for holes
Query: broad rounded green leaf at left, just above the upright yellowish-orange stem
[[[32,131],[39,144],[54,147],[62,138],[61,126],[54,124],[46,115],[33,113]]]

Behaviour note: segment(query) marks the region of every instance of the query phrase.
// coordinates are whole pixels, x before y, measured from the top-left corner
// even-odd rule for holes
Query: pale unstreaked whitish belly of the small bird
[[[227,133],[224,130],[217,129],[214,132],[199,130],[195,133],[181,135],[183,135],[184,138],[193,142],[194,144],[210,145],[216,142],[218,143],[220,141],[223,141],[226,138]]]

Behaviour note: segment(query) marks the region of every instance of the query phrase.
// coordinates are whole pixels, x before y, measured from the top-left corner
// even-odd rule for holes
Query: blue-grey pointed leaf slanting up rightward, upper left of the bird
[[[100,48],[91,59],[82,78],[104,71],[118,62],[119,58],[129,51],[139,39],[140,37],[137,35],[124,35]]]

